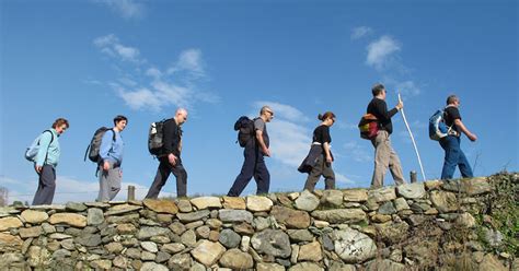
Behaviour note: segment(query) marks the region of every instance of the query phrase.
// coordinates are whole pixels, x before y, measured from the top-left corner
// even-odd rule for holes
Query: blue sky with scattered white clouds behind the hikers
[[[0,8],[0,185],[11,201],[32,201],[37,176],[23,152],[58,117],[70,129],[60,138],[55,202],[94,200],[95,166],[83,162],[84,150],[118,114],[129,119],[123,185],[142,198],[158,165],[147,150],[149,123],[178,106],[189,110],[188,195],[227,193],[243,162],[233,123],[265,104],[275,110],[272,191],[303,187],[296,168],[325,110],[338,120],[331,130],[337,187],[368,187],[373,149],[356,125],[376,82],[387,85],[390,107],[402,93],[428,179],[440,176],[443,151],[428,139],[427,121],[452,93],[478,137],[462,139],[475,175],[518,170],[517,1],[7,0]],[[405,175],[419,172],[400,114],[393,122]],[[244,195],[255,189],[252,180]],[[174,193],[172,176],[161,195]]]

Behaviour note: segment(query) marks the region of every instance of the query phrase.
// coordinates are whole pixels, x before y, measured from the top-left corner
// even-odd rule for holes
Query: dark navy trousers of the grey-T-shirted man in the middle
[[[243,162],[242,170],[238,175],[234,184],[227,193],[229,197],[238,197],[245,189],[251,178],[254,177],[256,181],[256,195],[268,193],[270,186],[270,174],[268,173],[267,166],[265,165],[265,158],[260,149],[254,144],[245,146],[243,150]]]

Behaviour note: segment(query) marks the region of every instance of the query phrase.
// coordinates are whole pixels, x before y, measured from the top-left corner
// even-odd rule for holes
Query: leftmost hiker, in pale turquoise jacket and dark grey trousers
[[[58,118],[53,128],[39,137],[39,150],[35,156],[34,169],[39,176],[38,189],[34,195],[33,205],[53,204],[56,190],[56,167],[59,162],[59,137],[69,128],[69,121]]]

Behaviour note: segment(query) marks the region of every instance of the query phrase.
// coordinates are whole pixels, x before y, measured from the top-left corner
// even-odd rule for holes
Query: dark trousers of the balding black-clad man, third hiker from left
[[[184,169],[182,165],[182,160],[178,157],[176,161],[176,165],[172,166],[168,161],[168,157],[159,158],[160,164],[159,168],[157,169],[155,179],[153,184],[151,184],[150,190],[148,195],[146,195],[147,199],[157,199],[159,197],[160,190],[165,185],[168,177],[170,174],[173,173],[176,178],[176,197],[186,197],[187,193],[187,172]]]

